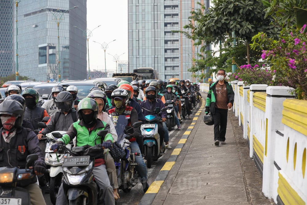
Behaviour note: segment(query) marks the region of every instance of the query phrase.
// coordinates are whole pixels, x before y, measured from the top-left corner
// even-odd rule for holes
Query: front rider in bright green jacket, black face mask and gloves
[[[51,150],[57,151],[59,144],[68,144],[76,136],[76,146],[84,146],[85,148],[95,146],[95,144],[101,144],[104,148],[110,148],[113,140],[110,133],[110,125],[97,119],[98,104],[92,98],[84,98],[78,104],[78,115],[80,121],[74,122],[70,125],[68,131],[59,141],[52,144]],[[97,136],[100,130],[108,130],[108,134],[102,139]],[[95,156],[95,165],[93,174],[95,182],[99,188],[103,190],[103,198],[105,204],[115,204],[113,190],[110,185],[110,180],[107,175],[105,166],[105,160],[103,152],[98,156]],[[63,184],[59,188],[58,196],[56,198],[56,204],[67,204],[66,196],[64,195]]]

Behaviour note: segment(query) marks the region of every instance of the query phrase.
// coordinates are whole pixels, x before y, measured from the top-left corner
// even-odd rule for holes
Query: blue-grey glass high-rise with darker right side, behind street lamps
[[[74,6],[78,7],[70,9]],[[57,22],[60,22],[59,27]],[[18,6],[19,74],[36,81],[57,80],[60,61],[61,80],[84,79],[86,39],[83,32],[73,26],[85,30],[86,25],[86,0],[21,0]]]

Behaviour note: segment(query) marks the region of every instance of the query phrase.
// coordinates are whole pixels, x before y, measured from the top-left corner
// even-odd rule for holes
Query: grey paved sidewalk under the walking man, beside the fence
[[[238,120],[233,113],[228,112],[227,144],[220,146],[214,145],[213,126],[202,120],[204,99],[198,113],[167,177],[159,181],[159,174],[160,187],[150,187],[139,204],[274,204],[261,192],[261,175],[244,154],[247,143],[238,136],[241,128],[233,129],[231,121]]]

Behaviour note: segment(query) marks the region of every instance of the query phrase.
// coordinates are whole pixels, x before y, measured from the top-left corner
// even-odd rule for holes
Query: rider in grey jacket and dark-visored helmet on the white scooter
[[[47,122],[47,127],[42,129],[37,138],[41,140],[43,136],[53,131],[67,131],[70,125],[79,118],[78,112],[72,108],[73,97],[68,91],[60,92],[55,99],[59,111],[52,114]]]

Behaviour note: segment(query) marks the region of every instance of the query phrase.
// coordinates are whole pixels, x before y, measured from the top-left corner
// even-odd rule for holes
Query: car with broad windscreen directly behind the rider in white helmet
[[[77,81],[64,81],[59,83],[58,85],[63,85],[63,87],[66,89],[69,85],[74,85],[78,88],[78,95],[77,97],[81,100],[83,98],[86,98],[88,93],[90,92],[90,89],[94,86],[98,86],[102,88],[103,90],[107,87],[107,84],[102,81],[97,81],[96,79],[91,80],[77,80]],[[49,96],[49,99],[51,99],[51,95]]]

